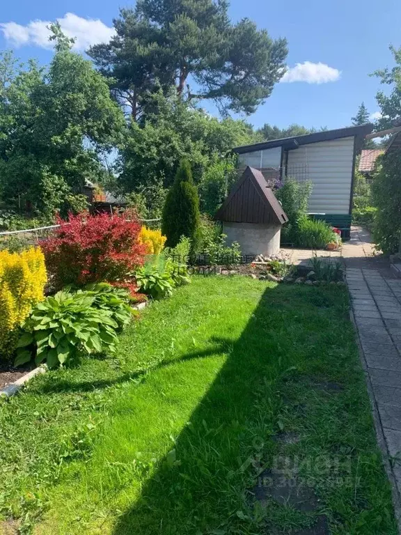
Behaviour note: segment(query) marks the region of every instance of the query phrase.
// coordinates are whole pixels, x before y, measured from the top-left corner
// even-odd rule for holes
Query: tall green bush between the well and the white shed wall
[[[312,183],[310,180],[299,182],[292,177],[286,178],[283,187],[276,191],[276,197],[288,216],[288,223],[281,228],[281,243],[301,245],[297,242],[297,222],[308,212],[308,201],[311,192]]]

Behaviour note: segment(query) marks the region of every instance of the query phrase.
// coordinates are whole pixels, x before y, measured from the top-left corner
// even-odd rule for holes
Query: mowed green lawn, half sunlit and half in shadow
[[[5,533],[397,533],[342,288],[194,277],[0,430]],[[313,506],[257,499],[283,463]]]

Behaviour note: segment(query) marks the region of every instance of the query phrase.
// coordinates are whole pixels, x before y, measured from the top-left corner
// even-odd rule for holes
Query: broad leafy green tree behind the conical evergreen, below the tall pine
[[[143,192],[161,183],[170,187],[182,159],[191,162],[198,184],[210,165],[255,139],[244,121],[219,121],[175,94],[158,91],[151,100],[152,111],[146,121],[132,123],[120,152],[115,185],[120,192]]]

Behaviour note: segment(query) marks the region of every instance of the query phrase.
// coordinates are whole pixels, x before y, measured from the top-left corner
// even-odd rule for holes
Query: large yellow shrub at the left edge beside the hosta
[[[0,359],[13,353],[17,327],[44,299],[46,281],[45,257],[39,248],[0,251]]]

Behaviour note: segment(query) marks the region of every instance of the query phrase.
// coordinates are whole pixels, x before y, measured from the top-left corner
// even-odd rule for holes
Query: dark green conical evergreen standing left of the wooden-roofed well
[[[186,236],[191,240],[193,249],[196,249],[199,219],[198,191],[192,178],[191,165],[187,160],[182,160],[163,210],[162,234],[167,236],[166,245],[175,247],[180,238]]]

